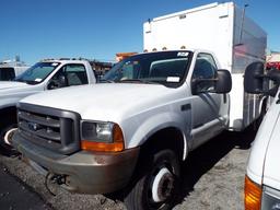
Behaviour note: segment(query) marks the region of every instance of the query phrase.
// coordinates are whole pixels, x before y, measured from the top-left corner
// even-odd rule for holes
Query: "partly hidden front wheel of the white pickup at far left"
[[[5,127],[0,133],[0,151],[7,156],[16,156],[20,153],[11,145],[16,125]]]

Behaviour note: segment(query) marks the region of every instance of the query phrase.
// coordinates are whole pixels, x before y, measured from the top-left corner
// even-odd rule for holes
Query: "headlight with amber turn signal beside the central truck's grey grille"
[[[81,122],[81,148],[92,151],[118,152],[124,150],[124,136],[120,127],[107,121]]]

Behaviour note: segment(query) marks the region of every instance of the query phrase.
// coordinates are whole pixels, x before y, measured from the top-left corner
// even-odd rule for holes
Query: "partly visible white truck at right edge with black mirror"
[[[266,80],[272,80],[275,85],[265,88]],[[258,68],[248,69],[244,82],[245,91],[275,97],[249,154],[244,187],[245,209],[277,210],[280,209],[280,72],[270,70],[264,75]]]

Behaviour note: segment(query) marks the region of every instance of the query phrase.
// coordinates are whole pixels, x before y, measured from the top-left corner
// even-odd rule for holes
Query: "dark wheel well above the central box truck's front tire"
[[[184,155],[184,136],[182,131],[177,128],[165,128],[155,132],[141,145],[140,154],[151,154],[163,149],[172,149],[182,160]]]

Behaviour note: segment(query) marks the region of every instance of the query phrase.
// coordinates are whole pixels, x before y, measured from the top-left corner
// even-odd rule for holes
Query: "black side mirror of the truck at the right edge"
[[[247,93],[259,94],[264,93],[264,63],[252,62],[245,69],[244,90]]]

